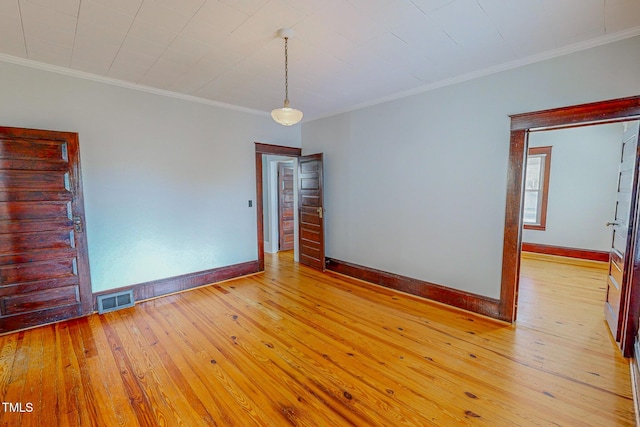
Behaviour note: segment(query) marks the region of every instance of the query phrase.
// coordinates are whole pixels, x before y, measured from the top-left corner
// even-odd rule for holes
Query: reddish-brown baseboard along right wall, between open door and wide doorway
[[[327,270],[355,277],[356,279],[365,280],[387,288],[417,295],[442,304],[500,320],[500,300],[494,298],[476,295],[333,258],[327,258],[326,268]]]

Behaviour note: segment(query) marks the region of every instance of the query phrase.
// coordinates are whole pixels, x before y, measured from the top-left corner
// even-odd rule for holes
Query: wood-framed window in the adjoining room
[[[547,226],[547,198],[551,147],[529,148],[524,186],[524,228],[544,230]]]

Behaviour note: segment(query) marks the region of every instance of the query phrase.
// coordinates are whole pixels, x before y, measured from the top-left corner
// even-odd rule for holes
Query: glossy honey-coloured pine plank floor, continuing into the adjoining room
[[[510,326],[290,254],[266,261],[263,274],[1,336],[0,396],[25,412],[3,405],[0,425],[634,425],[606,271],[523,260]]]

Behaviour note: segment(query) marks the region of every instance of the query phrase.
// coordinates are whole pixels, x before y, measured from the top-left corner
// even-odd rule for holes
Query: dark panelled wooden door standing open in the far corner
[[[324,271],[322,153],[298,158],[300,263]]]

